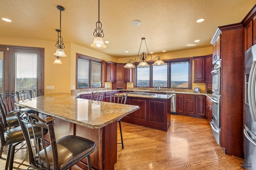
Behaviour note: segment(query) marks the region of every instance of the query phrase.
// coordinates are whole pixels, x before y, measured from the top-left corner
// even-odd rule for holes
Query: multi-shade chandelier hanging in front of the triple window
[[[141,38],[141,42],[140,42],[140,48],[141,48],[141,44],[142,44],[142,41],[145,41],[145,45],[146,45],[146,48],[147,48],[147,51],[148,51],[148,47],[147,47],[147,44],[146,44],[146,40],[145,40],[145,38]],[[132,63],[130,63],[131,61],[134,61],[134,62],[140,62],[139,64],[138,64],[138,68],[143,68],[143,67],[149,67],[149,65],[148,65],[148,61],[152,61],[152,60],[154,60],[154,59],[156,59],[156,58],[158,58],[158,60],[156,60],[152,65],[153,66],[163,66],[163,65],[166,65],[167,63],[164,63],[164,61],[162,61],[162,60],[160,60],[160,57],[159,56],[157,56],[157,57],[154,57],[153,59],[152,59],[152,55],[151,54],[146,54],[146,53],[141,53],[140,55],[140,49],[139,49],[139,52],[138,52],[138,55],[135,57],[135,61],[134,60],[129,60],[129,63],[127,63],[125,66],[124,66],[124,68],[135,68],[135,66],[134,66],[134,64],[132,64]],[[147,61],[147,59],[149,59],[148,61]],[[138,61],[139,60],[139,61]]]

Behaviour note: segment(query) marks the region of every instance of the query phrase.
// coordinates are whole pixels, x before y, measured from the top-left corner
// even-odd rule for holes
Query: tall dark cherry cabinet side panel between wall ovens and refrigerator
[[[226,154],[243,157],[244,26],[218,27],[211,43],[221,35],[220,147]],[[242,83],[238,83],[242,82]]]

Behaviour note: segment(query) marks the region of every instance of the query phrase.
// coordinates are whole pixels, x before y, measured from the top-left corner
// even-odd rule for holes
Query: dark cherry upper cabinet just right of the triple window
[[[194,82],[205,83],[212,81],[212,55],[193,57]]]

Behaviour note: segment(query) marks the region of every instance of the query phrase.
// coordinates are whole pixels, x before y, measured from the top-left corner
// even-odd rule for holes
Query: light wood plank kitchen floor
[[[115,170],[243,169],[244,159],[224,154],[206,119],[171,115],[168,132],[122,122],[122,132],[124,149],[118,144]],[[0,170],[4,169],[6,153],[2,157]],[[14,169],[28,167],[26,149],[15,154],[14,163]]]

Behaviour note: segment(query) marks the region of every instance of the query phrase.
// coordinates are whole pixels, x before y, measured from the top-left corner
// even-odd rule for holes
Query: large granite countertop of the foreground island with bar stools
[[[104,127],[140,109],[134,105],[79,99],[70,93],[48,94],[15,104],[92,129]]]

